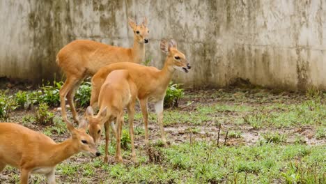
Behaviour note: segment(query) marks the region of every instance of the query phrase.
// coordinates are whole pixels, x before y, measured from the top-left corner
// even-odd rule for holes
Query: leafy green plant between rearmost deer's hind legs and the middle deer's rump
[[[87,107],[91,100],[91,82],[82,82],[75,95],[75,101],[78,107]]]

